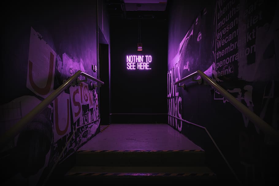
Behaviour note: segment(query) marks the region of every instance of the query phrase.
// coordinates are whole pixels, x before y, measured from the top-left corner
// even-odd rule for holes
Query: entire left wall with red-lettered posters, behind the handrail
[[[109,44],[105,5],[105,1],[98,1],[99,33]],[[0,98],[1,138],[9,129],[17,128],[17,121],[78,70],[99,78],[91,70],[92,65],[98,66],[96,6],[97,1],[18,2],[3,6],[1,78],[6,80],[1,86],[5,90]],[[81,95],[81,86],[78,86],[75,88]],[[55,162],[65,160],[100,131],[100,104],[96,103],[99,88],[90,90],[90,87],[88,90],[88,85],[84,84],[83,92],[87,98],[74,96],[91,100],[92,107],[88,112],[89,104],[85,101],[84,104],[81,100],[77,101],[78,104],[71,103],[74,99],[69,89],[73,87],[65,89],[31,122],[26,123],[19,134],[6,142],[5,147],[1,146],[1,152],[9,154],[1,159],[1,165],[7,169],[2,182],[42,185]],[[87,93],[91,93],[92,99]],[[79,108],[76,121],[73,119],[74,108]],[[88,115],[90,113],[92,115]],[[91,116],[91,119],[86,116]],[[75,130],[81,121],[91,123],[84,122],[85,126]]]

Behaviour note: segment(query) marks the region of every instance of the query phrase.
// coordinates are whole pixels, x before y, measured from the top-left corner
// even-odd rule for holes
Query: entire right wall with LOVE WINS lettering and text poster
[[[278,130],[278,2],[218,0],[179,8],[181,3],[171,4],[167,98],[168,114],[176,118],[169,116],[168,123],[210,150],[215,147],[203,141],[206,134],[177,118],[206,127],[243,182],[272,183],[277,153],[265,152],[272,139],[211,86],[192,86],[189,79],[179,84],[184,90],[174,82],[201,70]],[[180,9],[196,10],[188,28],[181,17],[190,16]]]

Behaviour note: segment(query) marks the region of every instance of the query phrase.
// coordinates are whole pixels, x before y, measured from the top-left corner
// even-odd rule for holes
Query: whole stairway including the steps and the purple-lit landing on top
[[[167,149],[157,150],[162,147]],[[166,124],[115,124],[101,129],[100,134],[59,164],[48,185],[175,182],[217,182],[215,173],[205,164],[201,148]]]

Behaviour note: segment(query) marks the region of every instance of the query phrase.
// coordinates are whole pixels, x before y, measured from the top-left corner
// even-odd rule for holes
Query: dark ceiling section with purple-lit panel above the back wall
[[[167,19],[167,0],[107,0],[111,19]]]

